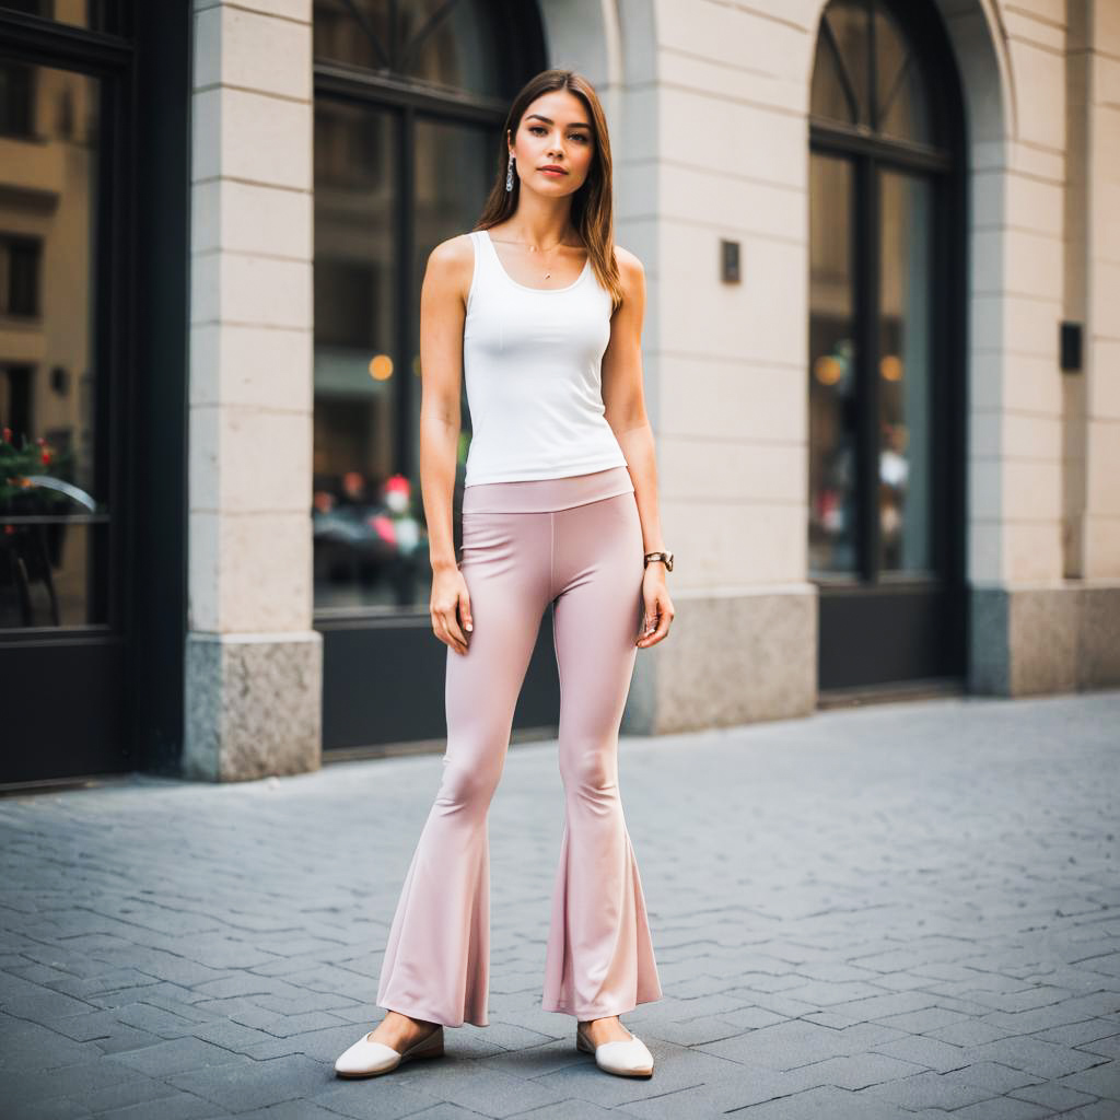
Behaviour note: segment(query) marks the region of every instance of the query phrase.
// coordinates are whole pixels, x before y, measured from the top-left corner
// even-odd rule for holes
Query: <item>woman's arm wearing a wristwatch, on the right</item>
[[[642,384],[642,320],[645,317],[645,269],[625,249],[615,246],[623,286],[623,302],[610,319],[610,342],[603,354],[603,403],[607,423],[618,440],[642,520],[643,552],[663,552],[657,511],[657,465],[653,429],[645,412]],[[656,645],[669,634],[673,603],[665,587],[665,566],[652,562],[642,580],[645,617],[636,645]]]

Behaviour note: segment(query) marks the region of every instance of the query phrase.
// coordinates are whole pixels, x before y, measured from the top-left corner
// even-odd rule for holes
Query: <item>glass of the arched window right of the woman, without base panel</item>
[[[810,571],[933,573],[939,293],[931,239],[948,153],[892,10],[833,0],[810,155]]]

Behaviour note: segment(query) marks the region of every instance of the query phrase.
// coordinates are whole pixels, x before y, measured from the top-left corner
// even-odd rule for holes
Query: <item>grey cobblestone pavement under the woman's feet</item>
[[[441,757],[0,800],[0,1114],[1120,1117],[1120,692],[624,737],[647,1081],[540,1009],[562,799],[491,809],[487,1028],[344,1081]]]

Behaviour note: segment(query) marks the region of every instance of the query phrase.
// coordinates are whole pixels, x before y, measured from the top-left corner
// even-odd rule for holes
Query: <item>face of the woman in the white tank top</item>
[[[569,90],[552,90],[530,102],[513,138],[522,186],[542,195],[567,195],[587,179],[595,134],[584,102]],[[563,174],[543,168],[559,167]]]

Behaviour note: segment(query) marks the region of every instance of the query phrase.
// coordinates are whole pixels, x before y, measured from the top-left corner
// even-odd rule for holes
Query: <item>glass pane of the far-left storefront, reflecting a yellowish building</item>
[[[106,433],[95,426],[91,315],[97,118],[94,80],[0,60],[0,627],[9,629],[106,620],[109,516],[95,457]]]

